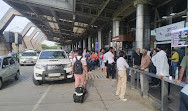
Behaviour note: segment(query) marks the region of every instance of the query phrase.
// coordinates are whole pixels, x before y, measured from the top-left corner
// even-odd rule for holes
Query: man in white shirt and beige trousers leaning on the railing
[[[126,68],[129,68],[129,65],[124,59],[125,53],[123,51],[119,52],[119,56],[120,58],[117,60],[118,84],[117,84],[116,96],[119,96],[120,100],[122,101],[127,101],[127,99],[125,99],[125,91],[127,86]]]

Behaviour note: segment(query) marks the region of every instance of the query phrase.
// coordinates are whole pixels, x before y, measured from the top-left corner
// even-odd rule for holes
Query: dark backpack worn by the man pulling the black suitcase
[[[74,63],[73,72],[74,74],[83,74],[83,66],[81,62],[82,57],[78,60],[76,57],[76,62]]]

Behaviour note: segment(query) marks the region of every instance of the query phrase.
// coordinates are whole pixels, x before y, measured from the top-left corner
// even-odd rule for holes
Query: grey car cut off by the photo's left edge
[[[0,56],[0,89],[3,83],[14,77],[19,79],[20,68],[18,62],[12,56]]]

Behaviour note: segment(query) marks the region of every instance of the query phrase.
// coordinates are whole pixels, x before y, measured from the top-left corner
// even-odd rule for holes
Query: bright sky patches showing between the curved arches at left
[[[8,9],[11,8],[7,3],[5,3],[3,0],[0,0],[0,21],[5,15],[5,13],[8,11]],[[16,16],[14,19],[10,22],[8,27],[5,29],[5,31],[12,31],[12,32],[19,32],[23,30],[23,28],[29,23],[30,21],[25,17]],[[0,22],[1,23],[1,22]],[[26,34],[26,36],[31,35],[31,33],[34,31],[35,28],[31,28],[29,32]],[[48,46],[54,46],[55,42],[51,41],[44,41],[42,44],[46,44]]]

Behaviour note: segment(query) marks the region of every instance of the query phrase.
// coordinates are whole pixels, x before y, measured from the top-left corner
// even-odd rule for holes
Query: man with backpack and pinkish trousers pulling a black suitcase
[[[75,73],[76,66],[74,65],[77,61],[81,61],[82,63],[82,73],[78,74]],[[88,70],[87,70],[87,63],[86,59],[82,57],[82,49],[78,50],[78,56],[73,58],[72,61],[72,70],[75,77],[75,88],[77,88],[79,85],[82,85],[83,88],[86,89],[86,79],[89,77]]]

